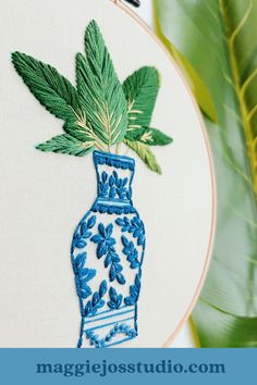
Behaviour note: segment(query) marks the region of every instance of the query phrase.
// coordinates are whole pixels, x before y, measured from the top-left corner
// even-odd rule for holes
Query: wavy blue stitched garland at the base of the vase
[[[87,339],[89,339],[90,345],[96,348],[107,347],[106,343],[110,343],[118,334],[124,334],[128,337],[126,339],[132,339],[137,336],[137,332],[124,323],[115,324],[115,326],[103,338],[99,338],[99,336],[91,330],[86,331]],[[119,343],[121,341],[118,341],[117,344]]]

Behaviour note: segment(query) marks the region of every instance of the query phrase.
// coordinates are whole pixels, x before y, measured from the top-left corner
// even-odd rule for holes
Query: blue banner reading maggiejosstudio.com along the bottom
[[[256,349],[0,349],[1,384],[242,384]]]

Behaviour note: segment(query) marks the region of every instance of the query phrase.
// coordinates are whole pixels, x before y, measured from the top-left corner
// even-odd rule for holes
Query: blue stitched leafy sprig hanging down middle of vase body
[[[97,258],[101,259],[105,256],[105,268],[110,268],[109,278],[110,282],[117,280],[120,285],[125,284],[124,275],[122,274],[122,265],[120,257],[115,252],[114,245],[115,239],[111,237],[113,232],[113,224],[109,224],[107,227],[102,223],[98,225],[98,233],[94,235],[90,240],[97,244]]]

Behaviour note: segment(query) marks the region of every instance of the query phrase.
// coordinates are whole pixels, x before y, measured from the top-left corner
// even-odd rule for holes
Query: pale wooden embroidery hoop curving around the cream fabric
[[[208,244],[208,249],[207,249],[207,254],[206,254],[206,261],[205,261],[205,265],[198,282],[198,285],[196,287],[195,294],[193,296],[193,299],[184,314],[184,316],[182,318],[182,320],[180,321],[180,323],[178,324],[178,326],[175,327],[174,332],[167,338],[167,340],[163,343],[162,348],[169,348],[171,346],[171,344],[174,341],[175,337],[178,336],[178,334],[180,333],[180,331],[183,328],[183,326],[185,325],[185,323],[187,322],[188,318],[191,316],[191,313],[199,298],[201,288],[204,286],[205,283],[205,278],[207,276],[207,272],[208,272],[208,268],[210,264],[210,259],[211,259],[211,253],[212,253],[212,249],[213,249],[213,241],[215,241],[215,235],[216,235],[216,221],[217,221],[217,187],[216,187],[216,177],[215,177],[215,165],[213,165],[213,159],[212,159],[212,152],[211,152],[211,147],[210,147],[210,142],[207,136],[207,131],[206,131],[206,126],[201,116],[201,113],[199,111],[199,108],[197,105],[197,102],[193,96],[193,92],[182,73],[182,71],[180,70],[180,67],[178,66],[178,64],[175,63],[175,61],[173,60],[173,58],[171,57],[170,52],[168,51],[168,49],[164,47],[164,45],[159,40],[159,38],[154,34],[154,32],[150,29],[150,27],[135,13],[133,12],[127,5],[125,5],[121,0],[109,0],[112,3],[114,3],[117,7],[119,7],[123,12],[125,12],[127,15],[130,15],[136,23],[138,23],[144,29],[145,32],[159,45],[159,47],[166,52],[166,54],[169,57],[169,60],[171,61],[172,65],[175,67],[178,75],[181,77],[182,83],[184,84],[184,87],[186,88],[192,103],[194,104],[196,114],[198,116],[199,120],[199,124],[201,127],[201,132],[205,138],[205,144],[207,147],[207,151],[208,151],[208,160],[209,160],[209,170],[210,170],[210,175],[211,175],[211,192],[212,192],[212,215],[211,215],[211,228],[210,228],[210,235],[209,235],[209,244]]]

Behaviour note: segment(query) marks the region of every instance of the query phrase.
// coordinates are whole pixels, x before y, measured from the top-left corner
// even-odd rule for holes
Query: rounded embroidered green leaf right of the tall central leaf
[[[152,66],[135,71],[124,82],[123,91],[128,105],[126,139],[134,140],[133,137],[138,135],[138,131],[150,125],[159,87],[159,74]]]

